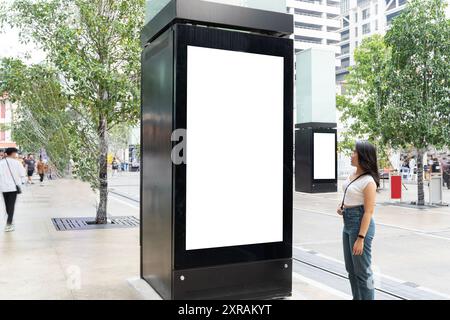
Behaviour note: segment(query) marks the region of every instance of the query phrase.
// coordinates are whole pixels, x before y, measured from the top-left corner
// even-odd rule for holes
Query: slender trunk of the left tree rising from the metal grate
[[[107,206],[108,206],[108,142],[106,141],[107,121],[106,117],[101,116],[98,126],[99,137],[99,193],[100,201],[97,208],[97,224],[107,223]]]

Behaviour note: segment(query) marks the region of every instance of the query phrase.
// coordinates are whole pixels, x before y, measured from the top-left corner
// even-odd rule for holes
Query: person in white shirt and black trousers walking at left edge
[[[5,158],[0,160],[0,191],[3,193],[8,215],[5,232],[14,231],[14,208],[17,194],[25,179],[25,169],[17,160],[17,152],[16,148],[7,148]]]

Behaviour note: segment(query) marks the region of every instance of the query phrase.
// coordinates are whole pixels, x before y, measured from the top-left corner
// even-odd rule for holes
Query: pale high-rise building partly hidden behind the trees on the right
[[[341,0],[339,67],[336,82],[340,86],[354,64],[353,52],[362,39],[373,34],[385,34],[392,20],[407,4],[407,0]]]

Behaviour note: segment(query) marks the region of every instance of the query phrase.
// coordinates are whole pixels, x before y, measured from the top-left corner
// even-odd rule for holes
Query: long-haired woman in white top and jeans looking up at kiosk
[[[353,300],[374,300],[371,263],[375,222],[372,216],[380,186],[375,147],[369,142],[358,141],[351,164],[356,170],[344,182],[344,198],[337,210],[344,218],[342,239],[345,268]]]

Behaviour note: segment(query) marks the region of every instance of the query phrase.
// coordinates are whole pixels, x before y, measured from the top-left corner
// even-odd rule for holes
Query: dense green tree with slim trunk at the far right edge
[[[450,21],[447,3],[412,0],[386,34],[392,50],[386,118],[397,128],[393,147],[413,146],[417,155],[418,205],[424,205],[423,155],[450,145]]]

